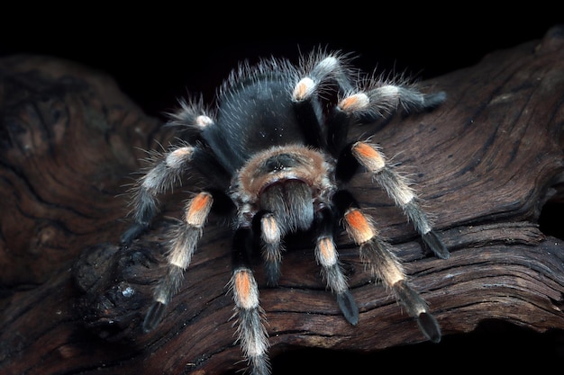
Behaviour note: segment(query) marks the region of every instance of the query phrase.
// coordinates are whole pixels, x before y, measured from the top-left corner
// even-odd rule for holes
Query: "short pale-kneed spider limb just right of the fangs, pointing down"
[[[322,275],[327,287],[337,296],[337,302],[343,316],[355,326],[359,322],[359,307],[350,294],[347,280],[342,273],[337,248],[333,241],[333,213],[325,207],[317,212],[318,234],[315,245],[315,258],[321,264]]]

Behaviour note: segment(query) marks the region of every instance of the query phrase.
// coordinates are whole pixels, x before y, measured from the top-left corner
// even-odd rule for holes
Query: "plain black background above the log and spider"
[[[207,5],[211,9],[153,5],[131,13],[86,6],[55,14],[34,9],[37,19],[5,13],[0,57],[44,54],[101,69],[145,112],[160,117],[187,93],[211,101],[216,87],[245,59],[296,61],[300,50],[322,46],[354,53],[355,63],[367,72],[376,68],[425,79],[470,67],[490,51],[541,39],[559,18],[564,22],[556,9],[492,13],[459,5],[435,13],[400,4],[381,11],[343,8],[324,16],[310,7],[274,17],[251,14],[250,7],[241,13]]]

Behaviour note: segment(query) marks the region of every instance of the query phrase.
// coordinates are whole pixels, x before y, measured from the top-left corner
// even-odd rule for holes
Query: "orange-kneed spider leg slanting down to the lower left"
[[[143,322],[143,330],[150,332],[159,325],[170,299],[177,293],[184,272],[196,251],[214,199],[209,192],[200,192],[186,204],[184,220],[171,233],[168,247],[168,271],[153,291],[154,302]]]

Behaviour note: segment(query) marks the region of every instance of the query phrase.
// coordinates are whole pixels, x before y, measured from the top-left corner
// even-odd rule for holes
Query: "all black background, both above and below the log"
[[[29,7],[4,12],[0,57],[43,54],[101,69],[145,112],[164,119],[163,113],[188,92],[211,101],[216,87],[243,59],[252,63],[275,56],[296,61],[300,49],[323,46],[355,52],[357,65],[367,71],[378,66],[379,71],[425,79],[471,67],[490,51],[540,40],[551,26],[564,21],[559,11],[538,2],[526,8],[511,3],[514,8],[497,7],[496,13],[488,4],[475,3],[437,9],[368,4]],[[524,365],[561,370],[563,364],[561,332],[541,335],[486,322],[475,333],[448,335],[436,345],[367,355],[288,351],[275,358],[274,373],[310,373],[305,371],[310,366],[314,373],[378,373],[393,371],[390,365],[401,371],[434,372],[516,370]]]

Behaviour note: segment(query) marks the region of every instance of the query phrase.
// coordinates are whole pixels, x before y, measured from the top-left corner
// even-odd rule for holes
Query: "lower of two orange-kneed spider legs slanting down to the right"
[[[405,272],[391,246],[378,235],[374,223],[359,209],[359,204],[350,192],[335,194],[337,206],[343,210],[345,230],[359,246],[360,259],[368,265],[373,276],[391,288],[396,299],[414,317],[423,335],[433,343],[441,341],[441,327],[429,312],[425,300],[406,280]]]

